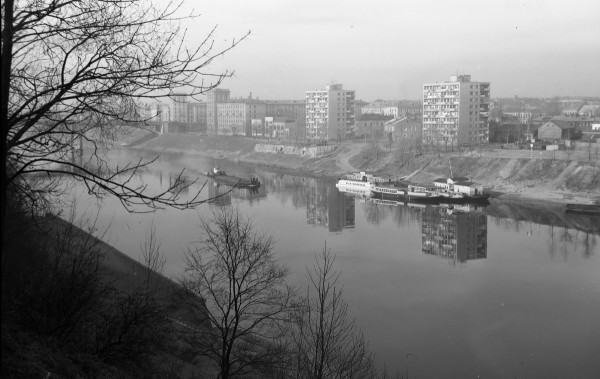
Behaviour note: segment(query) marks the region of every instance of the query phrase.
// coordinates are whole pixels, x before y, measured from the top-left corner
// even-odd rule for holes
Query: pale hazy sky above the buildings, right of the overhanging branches
[[[492,97],[600,96],[600,1],[189,0],[199,40],[250,37],[214,70],[232,96],[302,99],[338,82],[364,100],[419,99],[455,73]]]

